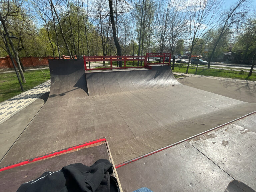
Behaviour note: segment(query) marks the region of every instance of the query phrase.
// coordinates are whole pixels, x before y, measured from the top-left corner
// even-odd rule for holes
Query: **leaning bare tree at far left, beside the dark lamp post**
[[[12,39],[10,38],[10,31],[8,30],[8,19],[11,19],[11,17],[14,17],[14,16],[19,16],[21,14],[22,3],[23,3],[23,0],[2,0],[0,4],[1,5],[0,6],[0,22],[4,30],[3,36],[7,37],[7,41],[11,45],[12,51],[15,55],[15,61],[18,66],[22,82],[26,83],[26,79],[24,77],[24,74],[20,65],[18,53],[14,47]],[[5,43],[7,44],[8,42],[5,42]]]

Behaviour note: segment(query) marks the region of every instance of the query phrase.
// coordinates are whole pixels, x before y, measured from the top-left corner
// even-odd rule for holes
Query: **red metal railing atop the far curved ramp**
[[[84,68],[86,71],[90,70],[106,70],[106,69],[127,69],[127,68],[145,68],[146,65],[151,64],[168,64],[170,65],[170,59],[168,63],[165,63],[165,58],[169,56],[171,58],[171,53],[147,53],[146,56],[83,56]],[[147,63],[149,57],[160,57],[163,58],[163,62],[157,63]],[[113,65],[113,61],[122,61],[123,67],[117,67]],[[140,66],[127,66],[127,61],[139,61]],[[91,63],[98,62],[98,63]],[[100,62],[100,63],[99,63]],[[107,63],[106,63],[107,62]],[[136,65],[137,65],[136,62]],[[143,64],[142,64],[143,62]],[[103,66],[103,63],[105,65]],[[100,67],[100,68],[96,68]]]

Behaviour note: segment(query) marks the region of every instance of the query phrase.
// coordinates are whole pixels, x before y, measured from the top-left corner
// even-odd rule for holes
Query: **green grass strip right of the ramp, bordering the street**
[[[176,67],[177,66],[177,67]],[[185,73],[187,66],[184,65],[176,65],[173,72],[178,73]],[[189,66],[188,73],[195,74],[196,66]],[[243,79],[243,80],[250,80],[256,81],[256,73],[252,73],[250,77],[248,77],[249,72],[244,72],[244,70],[235,71],[234,69],[224,70],[224,69],[207,69],[205,68],[197,68],[197,75],[206,75],[206,76],[214,76],[214,77],[225,77],[225,78],[232,78],[232,79]]]

